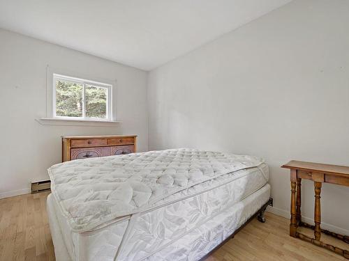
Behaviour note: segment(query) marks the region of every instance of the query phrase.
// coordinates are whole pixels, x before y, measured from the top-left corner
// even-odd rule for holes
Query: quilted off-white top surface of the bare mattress
[[[72,230],[84,232],[220,175],[259,166],[258,157],[192,149],[77,159],[48,169]],[[198,193],[198,191],[195,191]]]

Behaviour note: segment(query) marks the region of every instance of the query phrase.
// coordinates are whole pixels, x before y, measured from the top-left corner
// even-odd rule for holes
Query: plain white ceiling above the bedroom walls
[[[151,70],[290,0],[0,0],[0,27]]]

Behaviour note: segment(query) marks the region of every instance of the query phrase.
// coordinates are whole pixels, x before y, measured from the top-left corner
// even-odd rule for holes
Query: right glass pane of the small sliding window
[[[107,88],[85,86],[86,117],[107,118]]]

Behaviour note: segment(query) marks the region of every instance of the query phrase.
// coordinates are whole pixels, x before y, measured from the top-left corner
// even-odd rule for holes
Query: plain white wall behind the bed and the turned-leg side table
[[[349,165],[348,13],[346,0],[292,1],[151,71],[149,149],[265,157],[272,211],[288,216],[282,164]],[[313,184],[303,183],[302,211],[312,218]],[[322,221],[347,233],[348,198],[349,187],[322,187]]]

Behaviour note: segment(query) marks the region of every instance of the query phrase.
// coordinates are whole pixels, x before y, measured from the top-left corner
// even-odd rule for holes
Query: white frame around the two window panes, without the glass
[[[73,117],[73,116],[57,116],[57,97],[56,97],[56,83],[57,79],[61,79],[63,81],[73,81],[77,84],[82,84],[82,117]],[[81,79],[77,77],[70,77],[62,74],[54,73],[52,76],[53,88],[52,88],[52,112],[53,118],[61,119],[61,120],[94,120],[94,121],[111,121],[112,116],[112,84],[105,84],[99,81],[91,81],[87,79]],[[96,86],[99,88],[107,89],[107,115],[106,118],[97,118],[97,117],[86,117],[86,100],[84,95],[84,90],[86,85]]]

